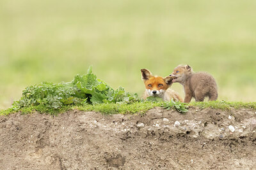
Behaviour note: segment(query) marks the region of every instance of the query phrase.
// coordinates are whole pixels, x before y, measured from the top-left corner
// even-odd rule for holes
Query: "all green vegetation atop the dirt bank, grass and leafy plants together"
[[[26,87],[22,91],[22,97],[12,104],[7,110],[0,111],[0,115],[8,115],[21,111],[21,113],[48,113],[57,115],[68,110],[99,111],[105,114],[115,113],[145,113],[156,106],[166,110],[175,109],[180,113],[186,113],[188,106],[200,108],[215,108],[229,110],[230,107],[256,108],[256,103],[232,103],[225,101],[209,101],[202,103],[180,103],[173,99],[163,101],[161,97],[150,96],[146,100],[137,94],[126,92],[124,88],[112,89],[109,85],[97,79],[92,72],[92,66],[87,74],[77,74],[70,82],[58,84],[43,82],[39,85]]]

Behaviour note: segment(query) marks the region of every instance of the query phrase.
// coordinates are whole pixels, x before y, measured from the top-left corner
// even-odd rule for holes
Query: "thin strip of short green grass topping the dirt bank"
[[[64,106],[59,110],[59,113],[68,111],[68,110],[82,110],[82,111],[98,111],[103,114],[133,114],[133,113],[145,113],[145,111],[150,110],[154,107],[161,107],[163,103],[154,103],[154,102],[142,102],[142,103],[132,103],[132,104],[125,104],[125,103],[104,103],[104,104],[86,104],[83,106]],[[256,103],[242,103],[242,102],[226,102],[226,101],[209,101],[209,102],[200,102],[200,103],[189,103],[189,107],[197,106],[201,109],[204,108],[214,108],[220,110],[230,110],[230,108],[241,109],[247,108],[256,110]],[[173,108],[175,109],[175,108]],[[45,113],[47,111],[51,115],[56,115],[55,111],[45,110],[45,108],[40,108],[40,106],[30,106],[28,108],[23,108],[20,111],[22,113],[33,113],[35,110],[38,110],[41,113]],[[188,108],[189,110],[189,108]],[[12,109],[1,110],[0,115],[8,115],[13,113]]]

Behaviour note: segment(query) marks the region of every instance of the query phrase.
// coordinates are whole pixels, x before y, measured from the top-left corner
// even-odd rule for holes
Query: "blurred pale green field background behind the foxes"
[[[1,0],[0,108],[28,85],[93,72],[142,94],[141,68],[211,73],[219,99],[255,101],[256,1]],[[172,86],[184,96],[181,85]]]

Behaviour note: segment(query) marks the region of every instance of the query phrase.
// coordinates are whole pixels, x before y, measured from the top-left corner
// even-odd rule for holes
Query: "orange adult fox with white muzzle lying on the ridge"
[[[165,78],[161,76],[153,76],[148,69],[141,69],[142,80],[144,81],[146,90],[143,98],[146,99],[149,96],[161,97],[164,101],[174,101],[183,102],[179,94],[172,89],[168,89],[172,85],[172,78],[166,76]]]

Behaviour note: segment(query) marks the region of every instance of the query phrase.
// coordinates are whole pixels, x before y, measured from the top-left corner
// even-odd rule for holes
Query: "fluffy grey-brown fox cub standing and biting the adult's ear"
[[[183,85],[185,92],[185,103],[189,103],[194,97],[196,101],[204,101],[206,96],[210,101],[216,101],[218,98],[217,85],[214,78],[205,72],[194,73],[188,65],[177,66],[170,76],[172,82],[178,82]]]

